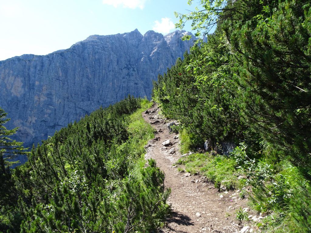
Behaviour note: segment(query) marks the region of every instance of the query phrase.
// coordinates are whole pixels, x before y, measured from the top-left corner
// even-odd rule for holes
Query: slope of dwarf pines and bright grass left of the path
[[[156,232],[170,191],[156,162],[143,158],[154,137],[141,115],[148,106],[128,97],[101,108],[33,148],[28,162],[12,170],[3,164],[10,152],[3,148],[0,232]]]

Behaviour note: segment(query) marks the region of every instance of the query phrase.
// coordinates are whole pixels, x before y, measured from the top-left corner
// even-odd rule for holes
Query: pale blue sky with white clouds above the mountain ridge
[[[167,34],[176,30],[174,11],[187,13],[198,1],[189,6],[187,0],[0,0],[0,60],[45,55],[93,34],[136,28]]]

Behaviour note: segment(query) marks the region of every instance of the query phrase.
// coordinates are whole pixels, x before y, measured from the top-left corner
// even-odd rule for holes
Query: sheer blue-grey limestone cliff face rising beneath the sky
[[[45,56],[0,61],[0,106],[19,127],[16,140],[37,144],[68,123],[124,97],[150,98],[152,80],[182,57],[193,41],[134,30],[92,35]]]

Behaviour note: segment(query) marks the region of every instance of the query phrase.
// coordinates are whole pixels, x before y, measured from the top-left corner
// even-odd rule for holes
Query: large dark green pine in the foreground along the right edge
[[[222,26],[239,60],[234,72],[244,121],[299,166],[310,166],[311,149],[307,3],[280,2],[273,10],[264,7],[260,19]]]

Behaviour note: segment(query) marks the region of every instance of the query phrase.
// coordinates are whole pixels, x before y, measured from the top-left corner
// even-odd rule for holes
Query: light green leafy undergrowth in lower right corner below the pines
[[[250,159],[245,149],[242,143],[235,148],[232,156],[240,165],[238,168],[248,177],[247,184],[253,187],[253,208],[264,214],[272,212],[264,220],[265,230],[309,232],[311,186],[304,177],[304,171],[286,160],[269,164],[267,159]]]

